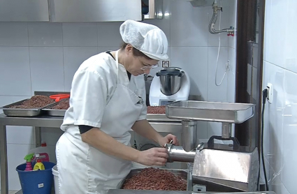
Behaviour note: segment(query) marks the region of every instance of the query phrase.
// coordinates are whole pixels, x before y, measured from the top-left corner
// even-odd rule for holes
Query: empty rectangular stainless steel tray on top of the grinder
[[[241,124],[254,116],[254,106],[243,103],[176,101],[166,105],[166,116],[171,119]]]

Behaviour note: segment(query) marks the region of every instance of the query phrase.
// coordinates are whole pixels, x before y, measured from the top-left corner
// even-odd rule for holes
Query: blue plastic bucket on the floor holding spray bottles
[[[26,163],[18,165],[15,170],[19,174],[23,194],[50,194],[54,177],[52,167],[55,163],[43,162],[45,170],[24,171]]]

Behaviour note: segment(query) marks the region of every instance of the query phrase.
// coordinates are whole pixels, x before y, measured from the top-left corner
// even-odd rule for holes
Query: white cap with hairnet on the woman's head
[[[152,24],[126,20],[119,27],[122,39],[151,59],[168,59],[165,33]]]

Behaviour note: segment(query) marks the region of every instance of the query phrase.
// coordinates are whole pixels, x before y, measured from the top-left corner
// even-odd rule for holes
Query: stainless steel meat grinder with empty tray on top
[[[254,116],[254,105],[243,103],[213,103],[181,100],[166,105],[166,116],[182,120],[182,146],[166,144],[168,162],[190,164],[193,179],[256,191],[259,155],[256,147],[242,147],[231,137],[232,124],[241,124]],[[196,121],[222,123],[222,136],[212,136],[208,142],[196,143]],[[218,144],[215,140],[229,140]]]

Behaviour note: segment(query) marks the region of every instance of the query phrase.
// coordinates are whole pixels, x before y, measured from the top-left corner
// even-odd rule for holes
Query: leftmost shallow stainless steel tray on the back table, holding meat
[[[24,100],[28,100],[24,99]],[[32,108],[32,109],[21,109],[21,108],[9,108],[12,107],[13,105],[20,105],[22,102],[24,102],[24,100],[20,100],[16,103],[12,103],[10,105],[5,105],[3,107],[0,107],[0,109],[3,110],[3,113],[8,116],[8,117],[36,117],[39,114],[41,114],[41,110],[44,107],[48,107],[49,105],[46,105],[44,107],[40,107],[40,108]],[[55,103],[52,103],[55,104]],[[52,105],[50,104],[50,105]]]

